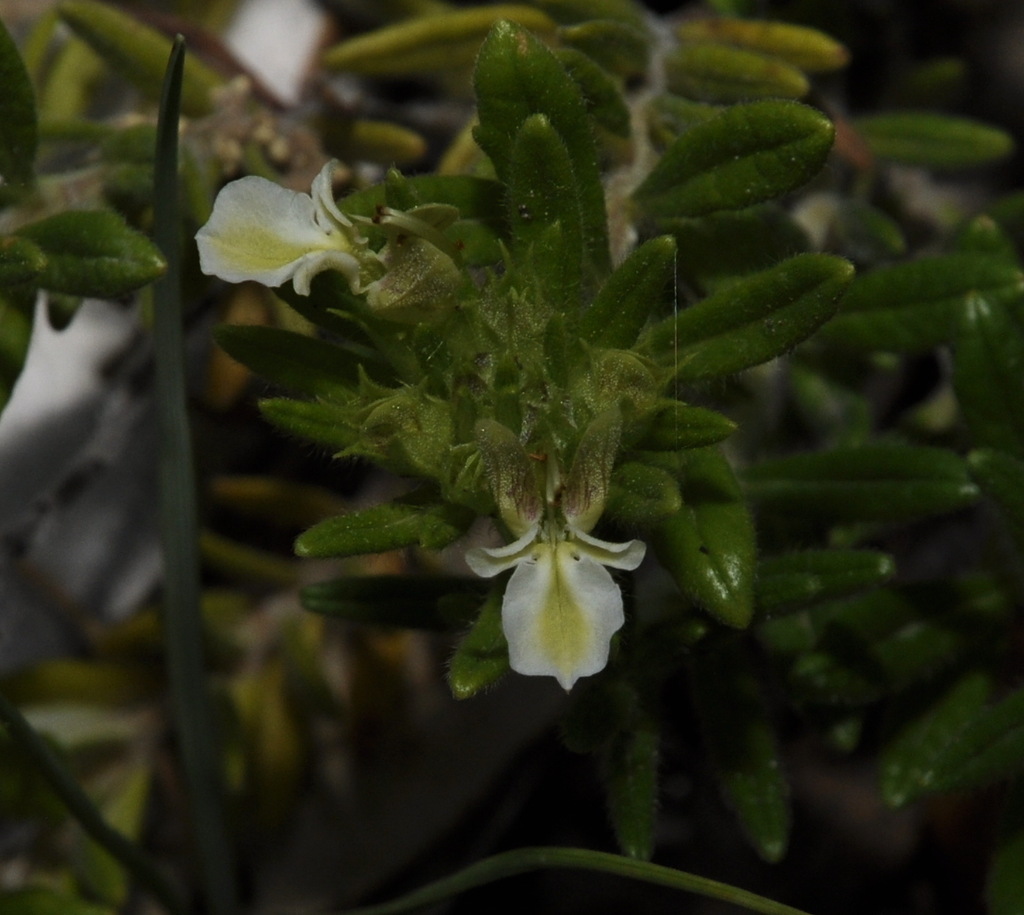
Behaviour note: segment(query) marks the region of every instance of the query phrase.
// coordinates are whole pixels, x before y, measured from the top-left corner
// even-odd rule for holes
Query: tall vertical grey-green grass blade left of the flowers
[[[200,609],[199,524],[186,411],[178,215],[178,108],[184,41],[178,36],[164,79],[157,125],[154,222],[167,273],[154,287],[160,418],[160,527],[164,629],[171,703],[210,915],[238,911],[233,856],[224,823],[220,754],[207,691]]]

